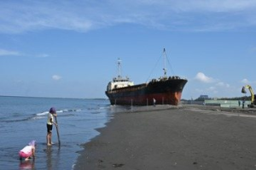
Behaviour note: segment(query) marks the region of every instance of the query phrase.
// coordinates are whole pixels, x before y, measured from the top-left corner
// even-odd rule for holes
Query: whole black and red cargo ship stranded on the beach
[[[164,49],[165,53],[165,49]],[[178,105],[183,88],[188,80],[180,77],[164,77],[153,79],[148,83],[135,85],[129,77],[120,75],[121,61],[118,60],[118,77],[108,83],[106,95],[111,105]]]

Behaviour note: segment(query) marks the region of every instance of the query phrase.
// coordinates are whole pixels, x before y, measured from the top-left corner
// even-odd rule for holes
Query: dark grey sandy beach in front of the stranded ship
[[[98,130],[74,169],[256,169],[253,111],[186,105],[116,113]]]

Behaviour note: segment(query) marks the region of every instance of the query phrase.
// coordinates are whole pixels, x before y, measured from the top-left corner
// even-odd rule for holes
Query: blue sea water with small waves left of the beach
[[[55,126],[46,145],[49,108],[57,111],[61,145]],[[77,153],[113,117],[106,99],[51,99],[0,96],[0,169],[72,169]],[[36,159],[20,161],[19,151],[32,139],[37,141]]]

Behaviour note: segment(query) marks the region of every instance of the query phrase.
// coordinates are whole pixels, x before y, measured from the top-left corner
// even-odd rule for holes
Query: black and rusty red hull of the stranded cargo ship
[[[106,91],[111,105],[178,105],[185,79],[170,79],[143,83],[131,87]]]

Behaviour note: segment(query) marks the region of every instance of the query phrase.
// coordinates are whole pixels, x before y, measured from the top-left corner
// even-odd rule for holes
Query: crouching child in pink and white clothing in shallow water
[[[31,157],[35,158],[36,151],[36,140],[32,140],[28,145],[26,145],[22,150],[20,150],[20,160],[25,158],[25,161],[29,160]]]

